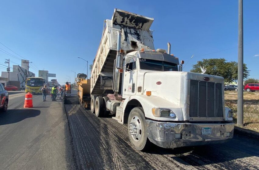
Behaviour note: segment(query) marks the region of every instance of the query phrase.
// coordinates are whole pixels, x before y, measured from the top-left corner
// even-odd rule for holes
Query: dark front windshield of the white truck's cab
[[[140,58],[140,69],[154,71],[178,71],[177,64],[175,63],[143,58]]]

